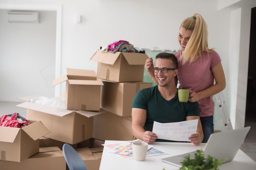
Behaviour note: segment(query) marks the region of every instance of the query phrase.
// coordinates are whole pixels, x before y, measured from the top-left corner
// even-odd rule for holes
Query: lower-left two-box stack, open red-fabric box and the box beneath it
[[[22,128],[0,126],[0,170],[65,170],[58,147],[40,148],[39,138],[50,131],[41,121],[28,122]]]

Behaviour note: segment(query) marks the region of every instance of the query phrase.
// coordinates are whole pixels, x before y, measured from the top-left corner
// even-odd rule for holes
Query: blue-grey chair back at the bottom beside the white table
[[[72,146],[65,143],[62,150],[69,170],[87,170],[84,161]]]

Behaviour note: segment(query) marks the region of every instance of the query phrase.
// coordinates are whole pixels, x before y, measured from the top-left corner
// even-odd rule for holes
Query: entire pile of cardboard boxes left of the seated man
[[[142,82],[147,58],[144,53],[97,51],[91,58],[98,62],[97,76],[68,68],[67,75],[53,81],[66,82],[66,109],[20,98],[25,102],[17,106],[27,109],[31,124],[0,127],[0,170],[65,170],[64,143],[77,150],[88,170],[98,170],[103,150],[98,147],[105,140],[133,139],[131,102],[140,89],[151,86]]]

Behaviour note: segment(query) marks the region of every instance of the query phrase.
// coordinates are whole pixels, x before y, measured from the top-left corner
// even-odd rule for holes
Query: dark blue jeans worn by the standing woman
[[[203,143],[207,143],[211,134],[213,134],[213,116],[200,117],[204,133]]]

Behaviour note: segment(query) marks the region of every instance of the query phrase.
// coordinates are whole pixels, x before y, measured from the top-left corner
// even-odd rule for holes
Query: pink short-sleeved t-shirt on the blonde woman
[[[212,68],[220,61],[216,51],[203,52],[202,57],[195,62],[186,62],[182,65],[181,51],[175,53],[178,59],[178,80],[180,88],[190,89],[195,92],[209,88],[214,83]],[[212,116],[214,114],[213,96],[198,101],[200,117]]]

